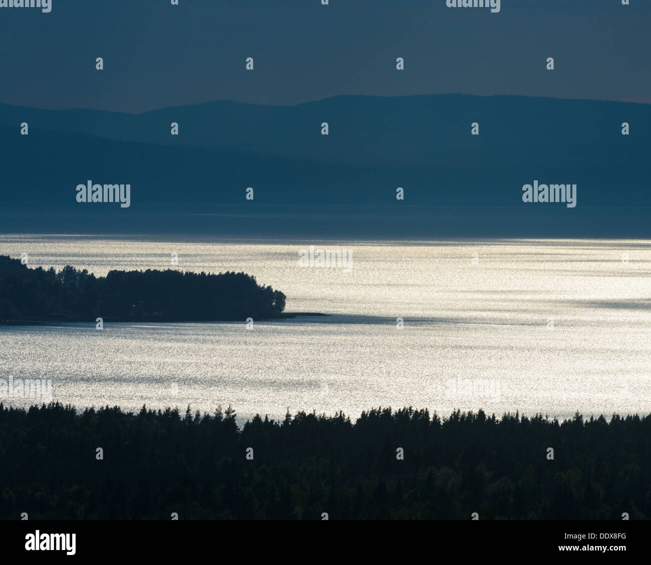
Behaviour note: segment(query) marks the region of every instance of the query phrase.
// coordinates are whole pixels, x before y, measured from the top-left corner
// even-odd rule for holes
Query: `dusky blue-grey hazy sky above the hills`
[[[100,108],[122,112],[443,92],[651,103],[649,0],[502,0],[497,14],[445,0],[51,2],[0,8],[0,103],[88,108],[100,87]]]

